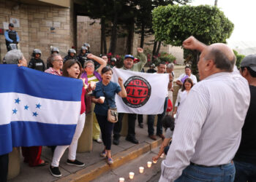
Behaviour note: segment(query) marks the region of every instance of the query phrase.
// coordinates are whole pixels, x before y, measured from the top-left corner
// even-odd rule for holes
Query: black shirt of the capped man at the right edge
[[[251,100],[242,128],[241,143],[235,160],[256,165],[256,87],[249,86]]]

